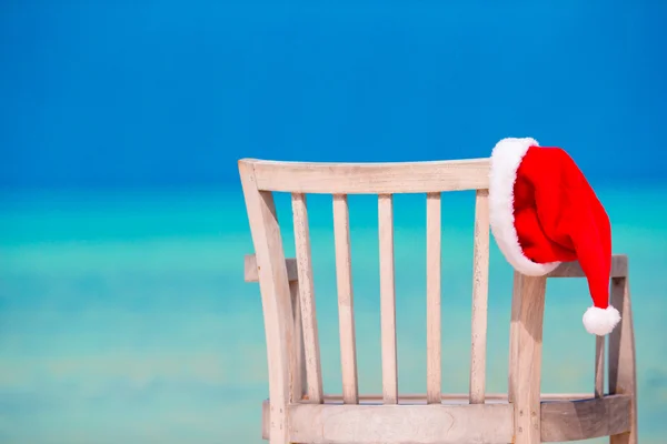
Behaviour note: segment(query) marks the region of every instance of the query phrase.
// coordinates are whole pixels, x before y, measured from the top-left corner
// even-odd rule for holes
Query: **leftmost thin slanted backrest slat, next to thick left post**
[[[308,398],[313,403],[319,403],[322,400],[322,369],[320,363],[319,334],[315,310],[310,230],[308,226],[306,196],[303,194],[292,194],[292,215],[298,263],[296,269],[299,276],[300,289],[300,317],[303,329],[305,365],[308,380]]]

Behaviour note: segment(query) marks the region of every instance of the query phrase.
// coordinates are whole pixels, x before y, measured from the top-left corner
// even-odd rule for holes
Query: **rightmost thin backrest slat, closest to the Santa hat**
[[[470,351],[470,403],[484,403],[489,290],[489,192],[478,190],[475,210],[472,263],[472,346]]]

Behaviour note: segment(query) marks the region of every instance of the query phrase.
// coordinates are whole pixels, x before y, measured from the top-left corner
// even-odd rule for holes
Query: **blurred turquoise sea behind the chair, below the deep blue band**
[[[600,189],[630,258],[641,443],[667,426],[667,189]],[[290,206],[278,195],[287,254]],[[377,205],[350,198],[360,390],[380,386]],[[309,200],[325,390],[340,392],[331,205]],[[426,389],[425,198],[396,198],[399,391]],[[472,193],[442,203],[444,391],[468,389]],[[507,390],[511,270],[491,241],[489,392]],[[260,443],[268,395],[240,188],[6,193],[0,204],[0,442]],[[584,280],[550,282],[544,392],[590,392]],[[598,440],[597,442],[603,442]]]

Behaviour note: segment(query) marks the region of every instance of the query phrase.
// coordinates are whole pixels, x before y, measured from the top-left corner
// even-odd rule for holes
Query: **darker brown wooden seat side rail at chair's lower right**
[[[542,403],[541,442],[591,440],[627,432],[630,404],[631,398],[623,395]]]

